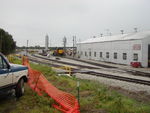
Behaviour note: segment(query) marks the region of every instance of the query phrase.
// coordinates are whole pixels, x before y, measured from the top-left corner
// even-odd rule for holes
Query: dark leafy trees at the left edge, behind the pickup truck
[[[16,42],[11,34],[0,28],[0,52],[4,55],[13,53],[16,49]]]

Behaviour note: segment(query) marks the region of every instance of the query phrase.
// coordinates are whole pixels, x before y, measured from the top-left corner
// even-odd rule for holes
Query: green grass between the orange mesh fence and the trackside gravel
[[[77,96],[76,78],[53,76],[55,72],[50,67],[32,64],[34,69],[45,73],[46,78],[57,88]],[[47,70],[47,71],[46,71]],[[50,71],[50,72],[49,72]],[[46,73],[48,72],[48,73]],[[89,80],[80,80],[81,112],[105,110],[108,113],[150,113],[150,104],[142,104],[134,99],[125,97],[116,91],[110,91],[106,86]]]

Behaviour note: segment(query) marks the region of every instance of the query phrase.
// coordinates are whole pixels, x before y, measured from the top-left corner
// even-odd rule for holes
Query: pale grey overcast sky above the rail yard
[[[67,44],[112,34],[150,29],[150,0],[0,0],[0,28],[13,35],[18,46]]]

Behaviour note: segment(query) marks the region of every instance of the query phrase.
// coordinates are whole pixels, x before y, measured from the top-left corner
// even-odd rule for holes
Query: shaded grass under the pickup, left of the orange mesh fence
[[[54,101],[45,96],[38,96],[29,86],[25,86],[25,94],[18,100],[15,96],[1,100],[0,113],[59,113],[52,107]]]

